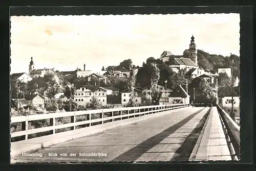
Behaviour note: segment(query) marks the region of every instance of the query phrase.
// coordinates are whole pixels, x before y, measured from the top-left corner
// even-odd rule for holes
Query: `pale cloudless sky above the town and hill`
[[[195,37],[209,54],[240,56],[239,14],[11,16],[11,74],[35,68],[101,70],[163,51],[182,55]]]

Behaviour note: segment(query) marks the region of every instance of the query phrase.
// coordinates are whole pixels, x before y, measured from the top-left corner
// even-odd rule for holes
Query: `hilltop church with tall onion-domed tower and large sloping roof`
[[[190,69],[199,68],[194,36],[191,37],[188,53],[188,58],[184,58],[182,55],[177,56],[173,55],[169,51],[164,51],[160,56],[160,59],[163,62],[168,62],[170,68],[172,68],[175,72],[181,72],[181,75],[184,76]]]

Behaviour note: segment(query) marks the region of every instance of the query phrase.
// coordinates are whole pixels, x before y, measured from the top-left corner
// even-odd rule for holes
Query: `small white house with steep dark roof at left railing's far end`
[[[178,85],[169,95],[169,104],[189,104],[188,93],[181,85]]]

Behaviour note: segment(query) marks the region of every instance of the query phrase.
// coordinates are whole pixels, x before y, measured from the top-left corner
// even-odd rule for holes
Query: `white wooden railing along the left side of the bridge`
[[[97,109],[97,110],[86,110],[86,111],[75,111],[75,112],[61,112],[61,113],[50,113],[50,114],[37,114],[28,116],[13,116],[11,117],[11,123],[22,122],[22,131],[12,132],[11,137],[25,136],[24,139],[28,139],[28,135],[51,131],[51,134],[55,134],[56,129],[72,127],[72,130],[76,129],[76,126],[86,125],[93,126],[93,123],[114,119],[125,119],[130,117],[138,117],[151,113],[157,113],[167,110],[174,110],[183,107],[188,107],[189,104],[171,104],[171,105],[156,105],[156,106],[140,106],[140,107],[127,107],[127,108],[112,108],[112,109]],[[100,114],[99,118],[92,119],[92,114]],[[104,117],[105,115],[108,115]],[[77,121],[76,116],[87,115],[87,120]],[[55,119],[58,117],[71,116],[71,123],[55,125]],[[43,128],[28,129],[29,121],[50,119],[50,126]]]

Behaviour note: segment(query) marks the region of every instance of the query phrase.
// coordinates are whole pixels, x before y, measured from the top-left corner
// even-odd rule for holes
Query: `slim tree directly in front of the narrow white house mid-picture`
[[[129,83],[128,83],[128,91],[130,92],[130,100],[127,103],[127,106],[133,107],[135,106],[135,98],[137,96],[137,93],[135,92],[135,76],[134,76],[134,70],[132,69],[130,71],[130,76],[129,76]]]

